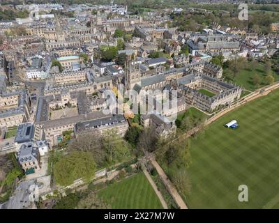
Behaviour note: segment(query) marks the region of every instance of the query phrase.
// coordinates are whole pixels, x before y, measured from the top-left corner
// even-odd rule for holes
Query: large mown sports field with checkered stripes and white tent
[[[230,112],[191,140],[189,208],[279,208],[279,90]],[[223,127],[236,119],[236,130]],[[248,202],[238,201],[239,185]]]

